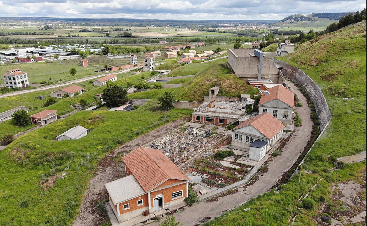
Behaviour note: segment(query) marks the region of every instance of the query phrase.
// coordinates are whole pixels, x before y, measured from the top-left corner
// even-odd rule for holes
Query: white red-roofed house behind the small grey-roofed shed
[[[257,115],[232,129],[231,146],[248,151],[249,145],[258,140],[266,142],[264,150],[268,151],[283,137],[283,129],[283,123],[270,115],[269,112]]]

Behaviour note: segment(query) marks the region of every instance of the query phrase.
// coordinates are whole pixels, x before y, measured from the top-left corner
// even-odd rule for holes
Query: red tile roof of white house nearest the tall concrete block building
[[[265,95],[264,93],[261,95],[259,105],[278,99],[294,108],[294,94],[287,88],[284,88],[284,86],[274,86],[269,88],[268,91],[268,95]]]

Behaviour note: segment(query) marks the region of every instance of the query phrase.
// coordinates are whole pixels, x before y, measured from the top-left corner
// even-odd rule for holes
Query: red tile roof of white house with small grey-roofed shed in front
[[[279,131],[284,128],[283,123],[281,123],[273,115],[270,115],[269,112],[266,112],[264,114],[247,119],[240,125],[233,128],[233,130],[240,129],[248,125],[255,127],[260,133],[269,139],[274,137],[275,134],[279,133]]]

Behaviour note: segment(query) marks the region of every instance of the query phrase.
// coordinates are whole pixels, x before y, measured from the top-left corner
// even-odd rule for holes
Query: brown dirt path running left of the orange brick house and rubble
[[[88,189],[84,194],[83,203],[80,206],[80,212],[76,217],[73,226],[99,226],[103,221],[105,221],[106,216],[101,215],[101,212],[98,212],[96,209],[96,204],[99,201],[108,199],[107,190],[105,189],[104,184],[125,176],[123,167],[124,163],[119,161],[119,158],[113,157],[117,156],[120,152],[132,151],[143,144],[153,141],[156,138],[177,129],[185,122],[185,120],[179,119],[178,121],[161,126],[136,138],[135,140],[123,144],[121,147],[111,151],[109,155],[106,155],[101,159],[98,163],[97,170],[94,172],[96,176],[92,178],[88,184]]]

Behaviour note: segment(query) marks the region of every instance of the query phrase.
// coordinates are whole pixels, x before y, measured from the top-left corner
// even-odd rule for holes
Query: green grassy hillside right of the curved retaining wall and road
[[[304,169],[313,173],[302,173],[300,186],[294,177],[280,186],[279,193],[265,193],[206,225],[288,225],[288,219],[298,212],[297,200],[321,176],[324,180],[310,193],[316,208],[301,209],[296,220],[299,225],[316,226],[314,219],[320,219],[323,203],[330,209],[339,208],[340,203],[328,198],[331,185],[355,178],[357,171],[365,170],[366,162],[362,162],[329,171],[336,158],[366,150],[366,21],[306,42],[280,60],[302,69],[321,87],[333,114],[326,133],[306,156]],[[320,195],[324,201],[318,198]],[[247,207],[251,210],[244,211]]]

